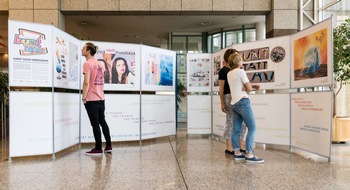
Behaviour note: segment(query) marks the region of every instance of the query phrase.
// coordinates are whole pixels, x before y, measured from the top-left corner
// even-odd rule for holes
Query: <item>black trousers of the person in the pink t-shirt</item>
[[[92,131],[95,137],[95,149],[102,150],[101,130],[106,139],[106,147],[111,146],[111,136],[109,134],[109,127],[105,120],[105,101],[88,101],[84,104],[87,114],[90,119]]]

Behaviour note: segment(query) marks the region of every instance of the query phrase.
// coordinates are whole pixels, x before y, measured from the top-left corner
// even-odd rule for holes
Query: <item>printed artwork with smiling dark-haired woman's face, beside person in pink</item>
[[[104,65],[105,84],[135,84],[134,50],[99,49],[95,58]]]

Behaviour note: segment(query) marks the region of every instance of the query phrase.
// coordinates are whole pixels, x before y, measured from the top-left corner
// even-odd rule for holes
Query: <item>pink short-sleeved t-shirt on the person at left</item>
[[[90,74],[90,86],[86,96],[86,101],[104,100],[104,70],[100,63],[92,58],[83,65],[83,74]]]

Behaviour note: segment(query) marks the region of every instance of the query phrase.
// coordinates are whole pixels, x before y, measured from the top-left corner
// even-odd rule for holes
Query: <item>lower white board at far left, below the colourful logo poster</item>
[[[10,92],[10,157],[53,153],[52,93]]]

